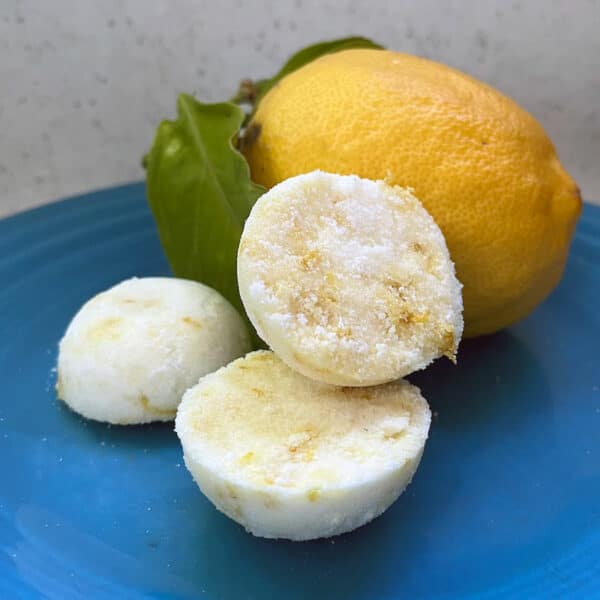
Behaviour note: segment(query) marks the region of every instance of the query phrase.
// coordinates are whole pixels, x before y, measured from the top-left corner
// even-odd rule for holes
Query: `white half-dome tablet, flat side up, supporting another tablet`
[[[430,421],[406,381],[338,388],[258,351],[188,390],[175,429],[219,510],[254,535],[306,540],[388,508],[419,464]]]

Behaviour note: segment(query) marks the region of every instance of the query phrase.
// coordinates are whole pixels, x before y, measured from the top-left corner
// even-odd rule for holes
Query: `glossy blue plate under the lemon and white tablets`
[[[600,598],[600,209],[563,281],[508,331],[411,379],[434,411],[415,479],[331,540],[254,538],[173,427],[57,402],[57,342],[93,294],[169,272],[140,184],[0,221],[0,597]]]

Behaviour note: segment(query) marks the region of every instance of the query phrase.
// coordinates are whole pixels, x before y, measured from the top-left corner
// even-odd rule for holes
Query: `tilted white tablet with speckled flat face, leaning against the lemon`
[[[444,237],[408,190],[315,171],[276,185],[250,214],[240,294],[291,367],[375,385],[454,359],[461,285]]]

